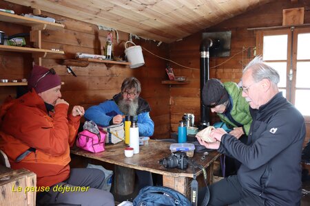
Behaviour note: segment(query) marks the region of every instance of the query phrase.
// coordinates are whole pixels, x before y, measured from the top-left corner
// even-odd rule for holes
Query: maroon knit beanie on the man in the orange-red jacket
[[[34,88],[37,93],[41,93],[61,85],[60,77],[56,73],[53,74],[48,71],[50,71],[50,69],[34,65],[30,78],[28,78],[28,89],[31,91],[31,89]]]

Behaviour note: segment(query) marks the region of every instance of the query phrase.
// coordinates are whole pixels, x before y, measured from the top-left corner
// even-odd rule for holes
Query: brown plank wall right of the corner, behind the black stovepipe
[[[241,14],[214,27],[183,38],[183,41],[170,44],[170,58],[186,67],[199,68],[199,46],[202,33],[230,30],[231,54],[227,58],[210,58],[210,78],[218,78],[223,82],[234,81],[238,83],[242,76],[243,67],[254,57],[253,48],[256,46],[256,32],[253,30],[248,31],[247,28],[282,25],[282,10],[298,7],[305,7],[304,23],[310,23],[309,1],[300,0],[298,3],[291,3],[289,0],[276,0],[262,5],[256,10]],[[242,47],[251,48],[249,57],[247,51],[241,52]],[[231,58],[232,56],[234,57]],[[229,60],[229,58],[231,59]],[[216,67],[216,65],[219,66]],[[190,81],[190,84],[171,88],[171,126],[173,131],[177,131],[178,120],[183,116],[183,113],[194,113],[195,123],[200,122],[200,78],[197,69],[185,69],[174,64],[172,64],[172,67],[176,75],[187,76]],[[212,114],[211,122],[215,122],[216,119],[216,116]],[[309,136],[310,123],[307,122],[307,138],[305,142],[309,141]]]

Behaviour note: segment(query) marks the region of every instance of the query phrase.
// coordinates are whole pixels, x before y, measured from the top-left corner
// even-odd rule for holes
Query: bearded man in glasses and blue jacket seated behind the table
[[[149,104],[139,97],[141,83],[134,77],[126,78],[121,86],[121,93],[114,95],[99,105],[85,111],[85,119],[94,121],[99,126],[110,126],[125,121],[124,115],[132,115],[138,121],[139,136],[150,137],[154,133],[154,122],[149,117]]]

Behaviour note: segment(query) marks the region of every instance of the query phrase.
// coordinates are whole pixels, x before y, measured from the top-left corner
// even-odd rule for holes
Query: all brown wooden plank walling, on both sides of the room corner
[[[63,98],[71,105],[81,104],[85,108],[112,98],[120,91],[123,79],[136,76],[142,83],[141,96],[152,107],[151,116],[155,122],[154,138],[168,138],[169,132],[177,130],[178,121],[184,113],[194,113],[196,124],[200,122],[199,46],[202,33],[231,31],[229,58],[234,57],[230,60],[229,58],[210,58],[210,77],[219,78],[223,82],[239,82],[242,68],[254,57],[253,48],[256,46],[256,32],[249,31],[247,28],[282,25],[282,10],[297,7],[305,7],[304,23],[310,23],[309,0],[300,0],[298,3],[291,3],[290,0],[276,0],[169,45],[162,44],[157,47],[153,41],[134,40],[137,45],[144,48],[145,66],[129,69],[121,65],[107,67],[105,64],[90,63],[88,67],[72,67],[77,78],[67,73],[65,66],[61,65],[61,60],[74,58],[76,52],[101,54],[107,32],[98,30],[96,25],[43,12],[65,25],[64,30],[42,32],[43,48],[65,51],[65,55],[48,55],[43,59],[43,66],[54,67],[61,76],[61,80],[65,82],[62,87]],[[0,8],[12,9],[17,14],[32,12],[30,8],[6,1],[0,1]],[[0,22],[0,28],[10,35],[30,30],[29,27],[3,22]],[[114,33],[114,55],[124,56],[124,43],[128,40],[129,34],[125,32],[118,32],[118,34],[119,43],[116,43]],[[247,51],[240,52],[242,47],[251,48],[250,56],[247,55]],[[157,58],[145,49],[192,68],[185,69],[171,63],[176,76],[187,76],[190,83],[171,86],[161,84],[161,80],[167,79],[166,61]],[[221,63],[223,65],[220,65]],[[31,68],[31,54],[0,52],[0,78],[27,78]],[[0,103],[7,95],[15,95],[16,89],[17,87],[0,87]],[[211,115],[211,122],[217,119],[216,115]],[[309,130],[310,126],[307,124],[308,134]]]

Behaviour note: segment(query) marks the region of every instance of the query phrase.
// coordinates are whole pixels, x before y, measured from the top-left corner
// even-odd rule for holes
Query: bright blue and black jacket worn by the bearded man
[[[121,98],[121,93],[114,95],[112,100],[107,100],[99,105],[91,106],[85,111],[85,119],[92,120],[99,126],[110,126],[111,119],[116,115],[124,115],[118,108],[117,102]],[[139,136],[150,137],[154,133],[154,122],[149,117],[151,108],[149,104],[138,98],[138,128]],[[124,121],[125,119],[123,119]]]

